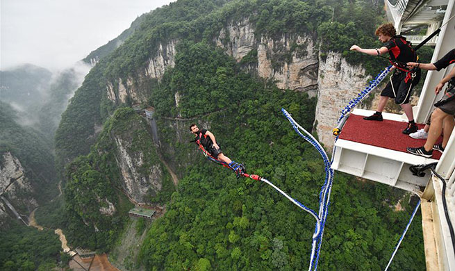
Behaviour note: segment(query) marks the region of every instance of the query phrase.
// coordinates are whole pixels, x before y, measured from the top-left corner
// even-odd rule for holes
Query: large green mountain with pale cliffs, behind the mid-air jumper
[[[387,65],[349,51],[354,43],[380,46],[373,34],[382,6],[178,0],[137,22],[117,49],[97,53],[62,115],[55,145],[65,201],[38,222],[63,227],[72,247],[113,252],[131,228],[129,208],[145,205],[164,211],[140,227],[143,243],[115,259],[125,270],[308,268],[314,218],[207,161],[188,128],[209,129],[247,172],[317,209],[324,165],[281,108],[311,131],[333,117],[315,113],[327,102],[324,82],[349,77],[354,88]],[[356,89],[343,91],[341,101]],[[132,108],[147,108],[155,122]],[[413,206],[402,191],[336,173],[318,268],[383,268]],[[422,226],[414,223],[391,270],[422,266]]]

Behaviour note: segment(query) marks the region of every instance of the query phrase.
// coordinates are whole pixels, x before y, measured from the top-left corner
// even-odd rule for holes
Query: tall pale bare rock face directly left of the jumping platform
[[[363,67],[349,65],[341,54],[329,53],[325,60],[320,59],[315,122],[319,140],[326,149],[333,148],[332,129],[341,110],[365,88],[369,79]]]

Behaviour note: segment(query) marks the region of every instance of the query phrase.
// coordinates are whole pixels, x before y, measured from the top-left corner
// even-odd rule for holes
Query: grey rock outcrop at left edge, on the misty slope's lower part
[[[31,182],[26,177],[19,159],[10,152],[1,154],[0,196],[8,200],[19,213],[28,215],[38,206],[32,193]],[[8,206],[0,200],[0,224],[3,219],[8,219],[8,213],[11,213]]]

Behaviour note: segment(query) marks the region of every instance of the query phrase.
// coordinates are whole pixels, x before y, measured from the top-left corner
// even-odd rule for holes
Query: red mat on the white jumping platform
[[[372,145],[395,151],[406,151],[406,147],[421,147],[425,144],[424,139],[414,139],[402,133],[406,128],[407,122],[395,122],[393,120],[383,120],[382,122],[363,120],[363,116],[351,114],[343,127],[340,139]],[[419,129],[423,124],[417,124]],[[436,144],[442,142],[442,137]],[[439,151],[433,151],[433,159],[440,158]]]

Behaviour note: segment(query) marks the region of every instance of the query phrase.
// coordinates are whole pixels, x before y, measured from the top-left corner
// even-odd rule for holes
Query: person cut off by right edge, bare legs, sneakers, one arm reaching
[[[440,71],[452,63],[455,63],[455,49],[449,51],[449,53],[443,56],[440,60],[436,61],[436,63],[424,64],[410,62],[408,63],[408,66],[421,67],[422,69],[429,70],[437,69]],[[455,67],[438,83],[438,85],[436,85],[436,94],[442,90],[447,82],[449,82],[449,86],[445,90],[445,95],[435,104],[436,109],[431,114],[431,125],[428,132],[427,142],[425,142],[425,145],[422,147],[406,148],[406,151],[411,154],[430,158],[433,155],[433,149],[440,152],[444,151],[450,135],[452,134],[452,131],[454,131],[455,124]],[[442,131],[444,132],[442,143],[435,145],[436,140],[438,140]]]

